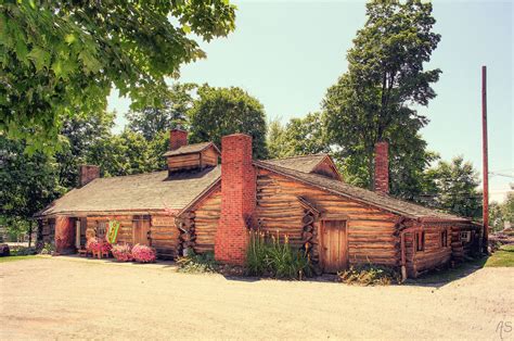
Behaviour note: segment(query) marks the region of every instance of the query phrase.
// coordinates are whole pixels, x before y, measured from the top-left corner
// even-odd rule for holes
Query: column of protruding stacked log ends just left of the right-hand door
[[[301,218],[301,250],[306,252],[314,271],[321,273],[318,230],[314,227],[314,223],[321,217],[321,210],[304,197],[297,197],[297,199],[304,209],[304,216]]]

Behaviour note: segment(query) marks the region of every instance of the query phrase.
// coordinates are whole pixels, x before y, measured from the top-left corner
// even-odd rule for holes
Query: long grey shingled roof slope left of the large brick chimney
[[[221,167],[98,178],[67,192],[37,215],[119,211],[180,211],[215,184]]]

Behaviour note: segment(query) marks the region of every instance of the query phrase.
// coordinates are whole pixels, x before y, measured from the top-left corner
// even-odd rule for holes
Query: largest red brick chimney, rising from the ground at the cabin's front
[[[244,134],[221,139],[221,217],[216,230],[215,258],[243,265],[247,227],[256,204],[256,175],[252,164],[252,137]]]

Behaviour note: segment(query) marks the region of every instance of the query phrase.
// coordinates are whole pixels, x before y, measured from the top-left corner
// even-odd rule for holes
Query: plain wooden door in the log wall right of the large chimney
[[[323,220],[322,262],[325,273],[337,273],[348,266],[345,220]]]

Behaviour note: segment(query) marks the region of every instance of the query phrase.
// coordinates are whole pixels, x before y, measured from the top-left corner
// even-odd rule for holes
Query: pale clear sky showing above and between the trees
[[[326,89],[347,68],[346,51],[365,21],[364,1],[233,1],[236,29],[201,46],[207,59],[184,65],[179,81],[239,86],[282,122],[320,109]],[[422,109],[428,148],[445,160],[464,157],[481,171],[480,67],[488,67],[489,171],[514,175],[513,16],[511,1],[434,1],[442,38],[428,68],[442,70],[438,97]],[[117,129],[129,106],[114,91]],[[514,178],[490,177],[493,200]]]

